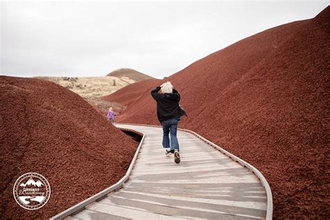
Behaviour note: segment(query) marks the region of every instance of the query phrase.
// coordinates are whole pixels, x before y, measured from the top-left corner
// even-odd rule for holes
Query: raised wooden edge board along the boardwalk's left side
[[[123,178],[121,178],[118,182],[116,182],[115,184],[113,184],[111,187],[108,187],[107,189],[104,189],[103,191],[100,191],[98,194],[95,194],[94,196],[91,196],[89,198],[86,198],[86,200],[78,203],[77,205],[74,205],[70,208],[68,208],[68,210],[64,210],[63,212],[56,214],[56,216],[51,217],[51,220],[58,220],[58,219],[64,219],[65,217],[68,217],[70,215],[73,214],[77,214],[78,212],[81,212],[82,210],[85,209],[85,207],[95,201],[100,201],[102,198],[105,198],[109,193],[111,193],[112,191],[117,191],[118,189],[123,187],[123,184],[125,182],[127,182],[127,180],[129,179],[129,175],[132,173],[132,169],[133,166],[136,162],[136,159],[139,155],[141,146],[143,144],[145,135],[141,134],[140,132],[136,132],[134,129],[126,129],[126,128],[120,128],[120,130],[125,130],[125,131],[129,131],[129,132],[134,132],[136,134],[139,134],[142,136],[142,139],[139,143],[138,148],[136,149],[135,155],[132,159],[131,164],[129,165],[129,168],[127,169],[126,174],[124,175]]]

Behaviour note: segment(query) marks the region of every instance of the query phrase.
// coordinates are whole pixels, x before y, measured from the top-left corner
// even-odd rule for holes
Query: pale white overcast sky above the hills
[[[159,79],[260,31],[315,17],[330,1],[1,1],[0,74]]]

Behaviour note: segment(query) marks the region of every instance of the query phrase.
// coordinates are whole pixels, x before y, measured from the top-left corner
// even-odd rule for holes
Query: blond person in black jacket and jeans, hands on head
[[[170,81],[157,86],[151,91],[151,95],[157,102],[157,118],[163,126],[163,148],[166,155],[174,154],[174,162],[180,163],[179,142],[176,136],[178,130],[180,94],[175,90]],[[169,134],[171,133],[171,144]]]

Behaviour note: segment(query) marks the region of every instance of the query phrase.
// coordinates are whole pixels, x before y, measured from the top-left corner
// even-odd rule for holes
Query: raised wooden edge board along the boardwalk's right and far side
[[[148,127],[162,127],[160,125],[143,125],[143,124],[134,124],[134,123],[118,123],[118,125],[138,125],[138,126],[148,126]],[[188,132],[190,134],[194,134],[198,139],[201,139],[208,145],[212,146],[213,148],[216,148],[220,152],[222,152],[224,155],[227,155],[230,159],[233,159],[235,162],[238,162],[242,166],[248,168],[256,177],[260,180],[262,186],[265,188],[266,194],[267,194],[267,214],[266,219],[270,220],[273,218],[273,197],[272,197],[272,189],[270,189],[269,184],[266,180],[266,178],[262,175],[260,171],[258,171],[257,168],[249,164],[248,162],[244,161],[243,159],[240,159],[239,157],[236,157],[235,155],[231,154],[227,150],[224,150],[220,146],[217,146],[217,144],[213,143],[212,141],[209,141],[205,139],[203,136],[197,134],[196,132],[193,132],[188,129],[182,129],[178,128],[178,130],[181,130],[182,132]],[[180,141],[180,140],[179,140]]]

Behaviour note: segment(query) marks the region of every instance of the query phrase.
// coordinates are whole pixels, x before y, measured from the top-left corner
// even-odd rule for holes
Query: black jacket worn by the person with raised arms
[[[180,118],[179,102],[180,94],[173,88],[173,93],[158,93],[160,86],[151,91],[151,95],[157,102],[157,118],[160,123],[164,120]]]

